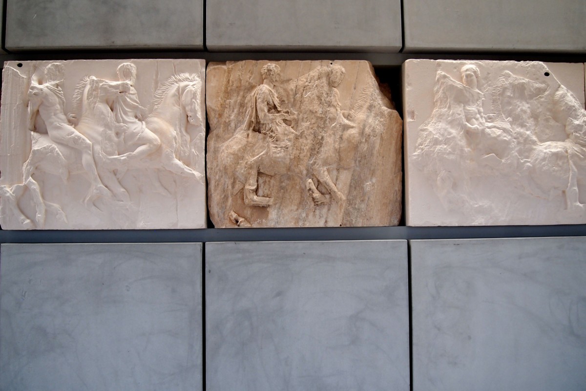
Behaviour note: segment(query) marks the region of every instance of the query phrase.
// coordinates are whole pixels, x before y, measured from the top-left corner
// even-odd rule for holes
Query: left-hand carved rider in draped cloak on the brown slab
[[[267,136],[263,152],[247,162],[248,178],[244,186],[244,203],[253,206],[269,206],[272,198],[257,196],[258,172],[274,175],[286,172],[289,164],[288,149],[292,137],[297,134],[284,121],[293,121],[295,115],[282,108],[275,86],[280,83],[281,69],[277,64],[266,64],[261,69],[263,84],[251,95],[245,130]]]

